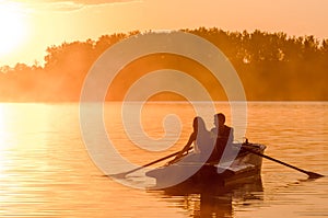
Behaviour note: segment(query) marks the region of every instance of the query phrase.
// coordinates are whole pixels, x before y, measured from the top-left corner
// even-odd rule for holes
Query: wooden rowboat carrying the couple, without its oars
[[[154,177],[154,190],[172,187],[202,188],[209,185],[227,186],[235,183],[258,180],[266,146],[260,144],[234,144],[231,154],[219,163],[201,163],[183,158],[174,164],[150,170],[147,176]],[[254,152],[249,152],[254,151]],[[227,152],[227,153],[229,153]],[[192,154],[189,154],[192,156]]]

